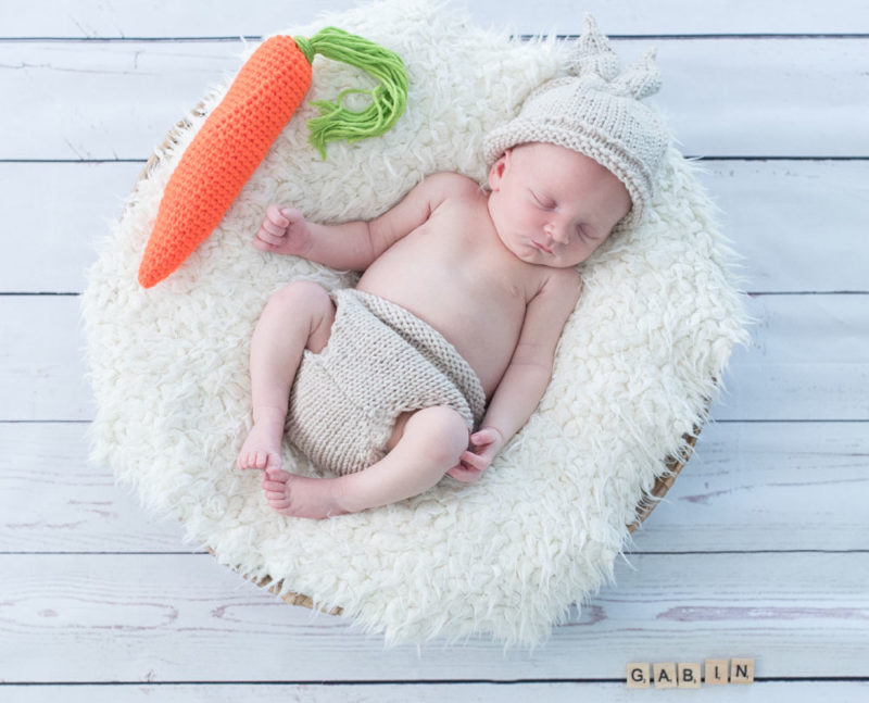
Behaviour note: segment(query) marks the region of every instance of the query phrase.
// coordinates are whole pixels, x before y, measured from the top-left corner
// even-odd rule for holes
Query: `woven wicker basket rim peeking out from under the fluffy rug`
[[[204,105],[200,102],[197,108],[193,110],[192,114],[198,116],[204,116]],[[159,152],[169,149],[178,143],[178,135],[181,130],[188,129],[191,126],[191,123],[188,120],[181,120],[173,127],[169,133],[166,135],[166,138],[163,140],[161,146],[151,154],[148,162],[146,163],[142,171],[139,173],[137,178],[137,183],[144,178],[148,178],[151,170],[158,163],[160,156]],[[667,493],[670,487],[676,481],[677,477],[679,476],[680,472],[688,463],[688,460],[691,457],[691,453],[696,444],[697,437],[700,436],[701,428],[694,427],[694,431],[691,435],[684,435],[683,439],[685,441],[685,450],[679,456],[669,456],[666,460],[667,470],[658,476],[655,480],[655,484],[652,490],[648,492],[648,495],[644,498],[637,506],[635,519],[628,525],[628,531],[630,533],[634,532],[639,527],[640,524],[648,517],[655,506],[660,502],[660,499]],[[214,552],[209,550],[209,552],[214,555]],[[314,601],[311,597],[305,595],[303,593],[294,593],[288,592],[280,594],[281,587],[284,581],[274,581],[270,576],[264,576],[262,578],[253,578],[245,575],[242,570],[236,569],[239,574],[241,574],[244,578],[252,581],[256,586],[267,589],[270,593],[276,595],[280,595],[280,598],[289,603],[290,605],[302,605],[304,607],[313,608]],[[343,608],[340,606],[332,607],[330,610],[323,608],[323,612],[328,613],[329,615],[340,615],[343,612]]]

